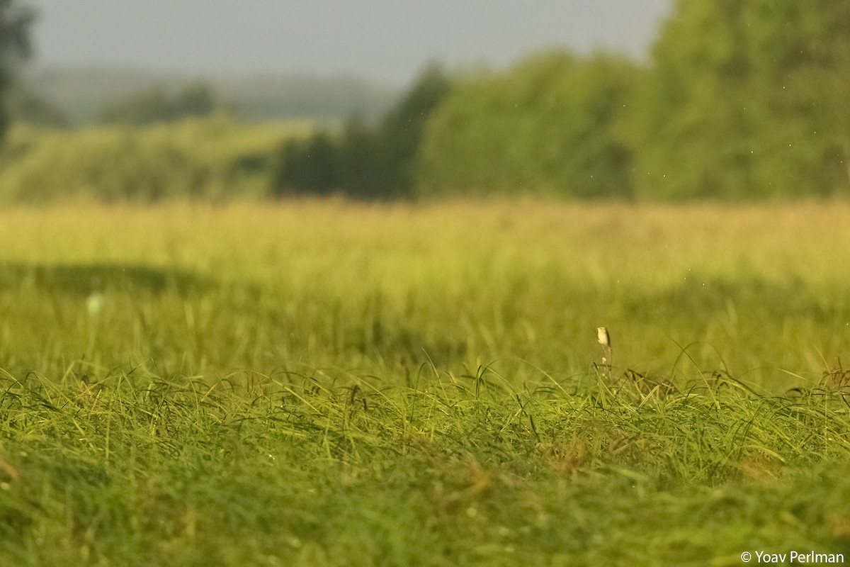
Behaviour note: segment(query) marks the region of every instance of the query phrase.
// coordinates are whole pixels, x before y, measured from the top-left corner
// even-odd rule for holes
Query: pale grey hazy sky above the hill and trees
[[[643,55],[672,0],[29,0],[39,65],[194,75],[501,67],[549,46]]]

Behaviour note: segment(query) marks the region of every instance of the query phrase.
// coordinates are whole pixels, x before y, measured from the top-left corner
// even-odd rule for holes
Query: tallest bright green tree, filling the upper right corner
[[[679,0],[626,136],[643,196],[847,189],[850,3]]]

